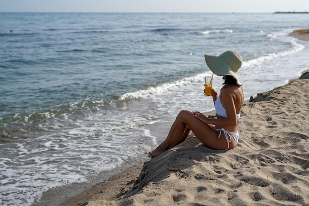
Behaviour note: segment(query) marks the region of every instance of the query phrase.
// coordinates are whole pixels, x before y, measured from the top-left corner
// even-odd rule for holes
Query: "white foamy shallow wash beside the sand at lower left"
[[[62,126],[59,132],[53,130],[36,139],[18,140],[14,152],[19,155],[14,159],[0,158],[3,171],[0,194],[6,194],[1,197],[2,202],[7,206],[29,206],[41,197],[42,191],[85,182],[99,172],[112,171],[126,162],[137,162],[151,150],[155,137],[138,126],[147,120],[136,118],[132,122],[128,111],[120,112],[127,120],[119,122],[119,116],[112,114],[110,123],[102,121],[100,114],[78,121],[70,117],[68,124],[75,124],[74,127]],[[112,122],[114,127],[106,129],[104,124]],[[14,165],[22,169],[10,169]],[[23,197],[19,195],[21,190]]]

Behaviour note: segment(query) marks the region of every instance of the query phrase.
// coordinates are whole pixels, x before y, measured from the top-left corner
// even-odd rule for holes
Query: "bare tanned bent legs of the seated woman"
[[[154,151],[149,152],[148,157],[155,157],[183,142],[186,139],[184,138],[186,127],[189,127],[195,136],[209,148],[226,149],[228,146],[226,138],[218,138],[218,132],[197,119],[193,112],[182,110],[172,124],[166,139]]]

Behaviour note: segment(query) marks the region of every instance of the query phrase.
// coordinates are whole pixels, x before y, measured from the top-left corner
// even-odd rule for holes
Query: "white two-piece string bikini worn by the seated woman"
[[[227,111],[226,109],[223,107],[221,101],[220,101],[220,94],[217,98],[217,100],[215,101],[215,109],[216,109],[216,114],[222,116],[222,117],[225,117],[225,118],[228,118],[228,115],[227,115]],[[240,120],[241,117],[240,117],[240,113],[239,114],[236,114],[237,115],[237,119]],[[224,136],[225,138],[227,139],[227,142],[228,142],[228,148],[226,150],[229,149],[230,147],[230,142],[232,142],[232,137],[234,138],[235,140],[235,145],[238,143],[238,139],[239,139],[239,134],[238,132],[235,133],[235,132],[232,132],[232,131],[227,131],[225,130],[224,128],[222,129],[215,129],[216,131],[219,131],[220,130],[220,133],[219,133],[219,136],[218,138],[220,138],[221,136],[221,132],[224,133]],[[230,137],[230,138],[229,138]]]

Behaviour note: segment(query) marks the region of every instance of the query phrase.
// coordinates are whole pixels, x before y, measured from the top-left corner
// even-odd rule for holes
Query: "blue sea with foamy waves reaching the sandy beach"
[[[242,56],[245,99],[300,77],[303,28],[308,14],[0,13],[0,205],[149,161],[180,110],[214,109],[204,53]]]

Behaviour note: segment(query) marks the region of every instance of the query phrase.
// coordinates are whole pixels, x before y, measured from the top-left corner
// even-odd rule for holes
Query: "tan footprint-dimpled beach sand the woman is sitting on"
[[[309,70],[243,105],[234,149],[190,135],[61,206],[309,206],[308,100]]]

